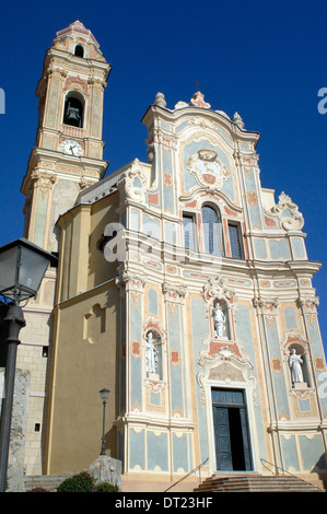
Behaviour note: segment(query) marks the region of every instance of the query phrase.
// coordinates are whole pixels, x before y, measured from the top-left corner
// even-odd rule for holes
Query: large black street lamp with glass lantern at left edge
[[[3,318],[5,325],[5,375],[0,420],[0,492],[5,491],[10,445],[12,404],[19,335],[25,326],[20,303],[36,296],[49,266],[57,265],[57,257],[21,237],[0,247],[0,295],[11,301]]]

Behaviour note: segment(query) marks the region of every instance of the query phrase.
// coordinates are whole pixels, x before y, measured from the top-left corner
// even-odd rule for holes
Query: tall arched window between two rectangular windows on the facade
[[[223,256],[222,223],[218,210],[202,207],[202,226],[206,254]]]

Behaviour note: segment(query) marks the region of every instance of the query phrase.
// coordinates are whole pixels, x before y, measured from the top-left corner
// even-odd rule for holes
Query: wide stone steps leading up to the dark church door
[[[293,475],[233,474],[213,475],[195,492],[326,492]]]

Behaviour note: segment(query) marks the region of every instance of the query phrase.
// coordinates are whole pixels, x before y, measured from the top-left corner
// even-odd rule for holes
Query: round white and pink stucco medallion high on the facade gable
[[[186,163],[200,185],[209,189],[221,189],[224,180],[230,176],[227,168],[218,159],[212,149],[202,149],[194,153]]]

